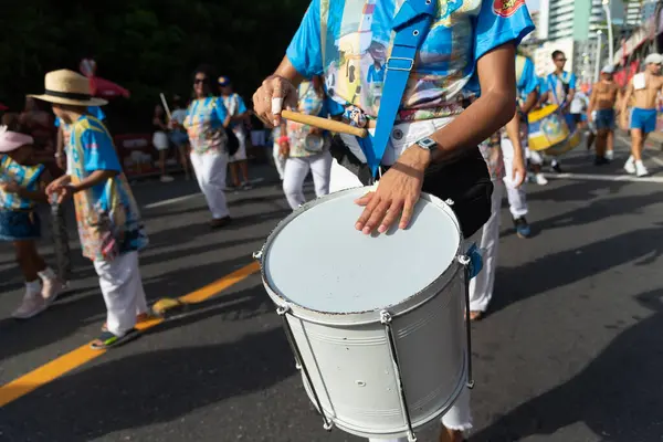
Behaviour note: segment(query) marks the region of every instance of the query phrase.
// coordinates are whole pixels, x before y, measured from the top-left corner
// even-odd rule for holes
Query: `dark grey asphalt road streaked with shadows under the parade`
[[[529,240],[516,238],[503,208],[495,297],[474,325],[472,442],[663,441],[663,180],[613,180],[623,147],[619,154],[614,166],[596,168],[578,149],[564,165],[579,175],[530,185]],[[646,164],[660,172],[663,161],[651,155]],[[190,293],[252,262],[288,213],[273,172],[253,171],[267,179],[230,196],[236,222],[215,232],[193,182],[135,187],[151,238],[141,259],[150,299]],[[172,198],[180,199],[150,206]],[[104,319],[83,259],[73,293],[24,323],[9,317],[21,284],[0,245],[1,383],[85,345]],[[434,429],[420,434],[433,438]],[[0,441],[359,439],[323,431],[253,274],[1,408]]]

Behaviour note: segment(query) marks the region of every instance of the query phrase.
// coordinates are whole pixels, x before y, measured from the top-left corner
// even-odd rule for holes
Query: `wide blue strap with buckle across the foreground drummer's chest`
[[[373,178],[387,150],[410,71],[414,66],[417,52],[431,28],[436,6],[436,0],[406,0],[393,19],[392,29],[396,36],[391,55],[387,59],[376,131],[372,136],[357,138]]]

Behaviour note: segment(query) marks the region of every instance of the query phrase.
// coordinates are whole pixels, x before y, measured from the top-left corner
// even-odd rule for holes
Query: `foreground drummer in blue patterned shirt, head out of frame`
[[[515,51],[534,30],[525,0],[459,0],[439,8],[413,57],[417,61],[404,96],[398,101],[393,127],[375,123],[380,106],[393,99],[391,88],[376,83],[389,83],[390,75],[400,74],[388,67],[382,80],[369,76],[368,67],[376,62],[389,65],[385,49],[392,48],[392,18],[396,3],[401,2],[324,1],[324,17],[322,0],[312,1],[286,56],[255,93],[256,115],[265,124],[280,124],[283,105],[297,107],[296,85],[302,78],[324,75],[328,95],[346,106],[356,125],[390,133],[379,183],[356,201],[366,209],[355,228],[365,234],[386,232],[392,224],[407,228],[423,189],[443,199],[453,197],[461,229],[469,238],[491,213],[492,185],[476,146],[515,113]],[[418,3],[428,8],[425,0]],[[367,24],[370,29],[365,29]],[[465,98],[478,87],[481,96],[465,107]],[[359,141],[343,136],[343,154],[334,154],[332,188],[368,183],[372,170],[366,167]],[[340,177],[346,181],[335,185]],[[406,275],[415,271],[403,265]],[[440,441],[462,441],[462,432],[472,427],[466,389],[442,422],[445,430]]]

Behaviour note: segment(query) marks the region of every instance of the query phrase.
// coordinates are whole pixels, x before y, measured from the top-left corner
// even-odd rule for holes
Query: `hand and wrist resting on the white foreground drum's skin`
[[[429,161],[422,155],[430,156],[430,152],[418,147],[408,148],[382,176],[377,190],[355,201],[366,207],[355,224],[357,230],[364,234],[370,234],[376,229],[385,233],[399,217],[399,229],[408,228],[421,194],[423,171]]]

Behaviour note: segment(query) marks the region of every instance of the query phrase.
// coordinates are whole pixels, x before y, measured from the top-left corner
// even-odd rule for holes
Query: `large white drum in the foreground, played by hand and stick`
[[[471,378],[470,260],[453,211],[428,194],[411,228],[358,232],[366,191],[304,204],[255,257],[325,428],[414,441]]]

